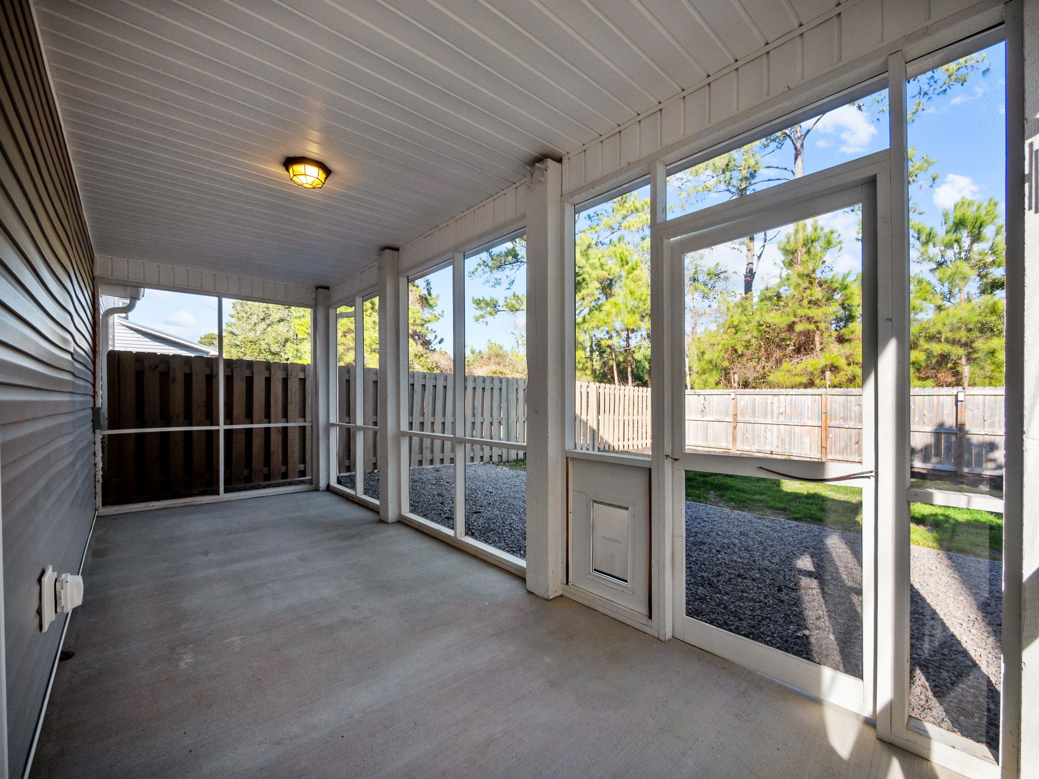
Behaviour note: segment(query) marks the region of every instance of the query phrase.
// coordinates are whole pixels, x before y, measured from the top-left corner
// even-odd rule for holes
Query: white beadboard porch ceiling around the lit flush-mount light
[[[330,285],[836,0],[34,4],[96,251]]]

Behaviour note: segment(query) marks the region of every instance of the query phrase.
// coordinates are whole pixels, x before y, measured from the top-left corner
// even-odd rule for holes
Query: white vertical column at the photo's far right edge
[[[1039,778],[1039,6],[1007,3],[1003,776]],[[1027,313],[1031,315],[1027,316]],[[1032,508],[1024,510],[1025,506]]]

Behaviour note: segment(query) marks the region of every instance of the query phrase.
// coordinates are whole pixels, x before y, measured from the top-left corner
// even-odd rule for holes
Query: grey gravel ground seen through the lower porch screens
[[[526,473],[476,463],[465,476],[467,535],[525,558]],[[411,468],[411,511],[453,528],[452,480],[451,465]],[[365,490],[378,496],[378,472]],[[856,533],[686,503],[686,613],[858,677],[861,559]],[[1001,564],[923,546],[910,560],[910,714],[996,748]]]

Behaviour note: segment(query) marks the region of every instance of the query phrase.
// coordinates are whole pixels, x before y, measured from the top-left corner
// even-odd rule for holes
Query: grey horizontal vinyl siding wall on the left
[[[22,775],[94,518],[94,257],[28,0],[0,2],[0,487],[8,763]],[[86,584],[89,592],[89,583]]]

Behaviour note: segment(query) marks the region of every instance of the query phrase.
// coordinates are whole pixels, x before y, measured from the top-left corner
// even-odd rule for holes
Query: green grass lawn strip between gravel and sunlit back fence
[[[834,484],[687,471],[686,500],[837,530],[858,531],[862,522],[861,490]],[[1000,514],[911,503],[909,516],[910,540],[916,546],[993,560],[1002,557]]]

